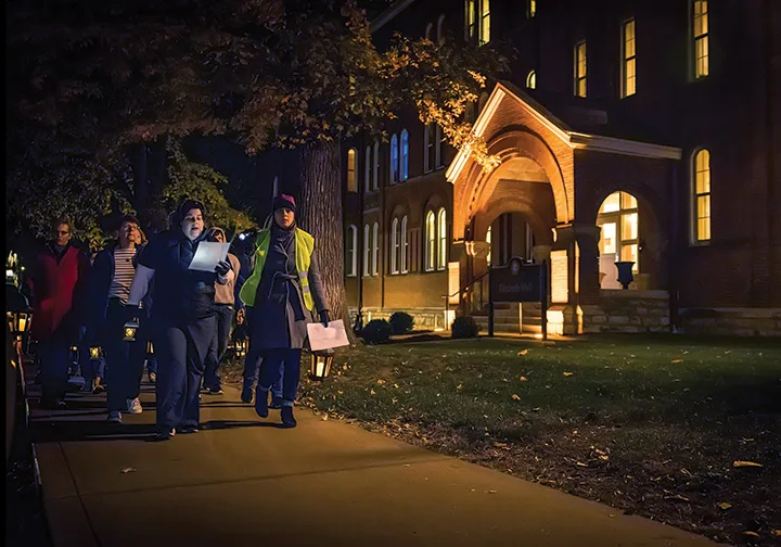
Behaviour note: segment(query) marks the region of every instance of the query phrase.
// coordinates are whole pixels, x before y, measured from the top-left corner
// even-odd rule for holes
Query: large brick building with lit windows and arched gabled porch
[[[345,145],[350,308],[479,318],[487,265],[521,256],[550,265],[554,332],[781,334],[780,4],[400,0],[377,15],[381,47],[400,31],[517,56],[477,105],[492,171],[413,111],[387,142]],[[538,306],[503,308],[499,328],[539,329]]]

